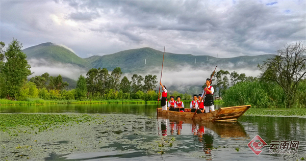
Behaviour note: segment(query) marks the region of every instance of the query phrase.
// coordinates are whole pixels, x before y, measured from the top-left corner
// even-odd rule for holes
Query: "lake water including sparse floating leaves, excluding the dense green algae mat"
[[[187,105],[185,105],[187,106]],[[242,116],[238,122],[206,122],[159,116],[157,105],[55,104],[0,106],[1,114],[89,114],[107,124],[70,125],[66,129],[1,138],[11,148],[0,158],[27,160],[296,160],[306,158],[306,119]],[[217,107],[218,108],[218,107]],[[97,122],[97,121],[95,121]],[[248,143],[266,143],[254,154]],[[13,138],[9,140],[9,138]],[[33,141],[32,141],[33,140]],[[35,144],[34,143],[35,140]],[[22,144],[31,150],[16,148]],[[299,141],[297,154],[269,154],[271,141]],[[288,142],[285,142],[288,141]],[[22,145],[23,145],[22,144]],[[32,145],[33,144],[33,145]],[[279,146],[282,146],[279,145]],[[33,150],[36,152],[32,152]],[[41,154],[37,152],[41,151]],[[22,154],[21,154],[22,153]],[[40,156],[41,155],[41,156]]]

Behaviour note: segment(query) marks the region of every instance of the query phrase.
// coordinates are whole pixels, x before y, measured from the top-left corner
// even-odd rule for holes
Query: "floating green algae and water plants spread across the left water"
[[[132,114],[0,114],[0,125],[0,160],[133,150],[155,155],[178,144],[156,135],[155,118]]]

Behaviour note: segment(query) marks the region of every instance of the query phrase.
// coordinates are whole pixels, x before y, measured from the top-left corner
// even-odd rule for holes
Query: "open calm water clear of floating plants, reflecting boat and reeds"
[[[0,113],[121,113],[157,118],[156,105],[135,104],[64,104],[44,106],[0,106]],[[147,154],[139,147],[114,142],[110,152],[89,152],[59,155],[51,153],[46,160],[296,160],[305,157],[306,119],[294,117],[242,116],[237,123],[194,122],[159,116],[155,121],[138,122],[142,136],[148,141],[161,137],[174,137],[179,146],[165,154]],[[149,125],[149,126],[148,126]],[[140,128],[139,128],[140,127]],[[148,128],[150,127],[150,128]],[[154,127],[154,128],[151,128]],[[133,127],[132,127],[133,128]],[[126,132],[125,138],[136,136]],[[255,155],[247,144],[259,135],[268,146]],[[138,136],[139,137],[139,136]],[[269,154],[271,141],[300,141],[298,154]],[[106,148],[106,147],[101,147]],[[239,148],[239,151],[236,151]],[[200,156],[200,157],[199,157]]]

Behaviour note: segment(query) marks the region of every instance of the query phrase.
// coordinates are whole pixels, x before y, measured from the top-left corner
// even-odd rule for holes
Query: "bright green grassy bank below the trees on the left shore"
[[[44,105],[44,104],[107,104],[107,103],[131,103],[131,104],[145,104],[142,99],[122,99],[122,100],[43,100],[33,99],[27,101],[12,101],[7,99],[0,99],[0,105]]]

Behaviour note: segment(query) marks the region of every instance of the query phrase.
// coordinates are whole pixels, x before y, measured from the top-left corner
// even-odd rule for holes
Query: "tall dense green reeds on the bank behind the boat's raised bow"
[[[306,108],[305,80],[298,86],[294,108]],[[286,108],[286,96],[276,83],[259,81],[242,82],[226,90],[223,95],[225,106],[250,104],[252,108]]]

